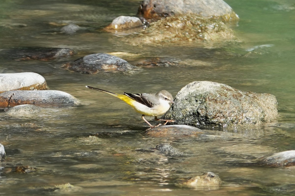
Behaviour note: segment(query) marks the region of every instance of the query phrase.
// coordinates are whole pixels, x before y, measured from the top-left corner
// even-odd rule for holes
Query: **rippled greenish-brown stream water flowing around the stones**
[[[130,46],[101,31],[120,15],[134,16],[140,1],[4,0],[0,2],[0,49],[72,48],[78,53],[51,61],[0,59],[1,73],[36,72],[51,90],[79,98],[83,105],[47,108],[34,117],[0,113],[0,192],[6,195],[288,195],[294,194],[294,168],[264,168],[250,160],[295,150],[295,5],[293,0],[246,0],[227,3],[239,15],[233,27],[242,41],[223,48]],[[57,33],[59,24],[87,27],[75,34]],[[91,53],[123,51],[142,57],[178,57],[187,66],[152,67],[131,74],[82,74],[62,64]],[[124,57],[132,63],[133,57]],[[255,128],[204,130],[204,137],[150,137],[130,106],[107,94],[155,93],[173,97],[192,81],[225,83],[242,91],[272,93],[278,100],[278,122]],[[41,128],[25,128],[21,123]],[[150,152],[170,143],[184,152],[173,157]],[[26,165],[35,172],[15,173]],[[179,177],[211,171],[223,184],[218,190],[178,188]],[[58,189],[55,185],[73,187]]]

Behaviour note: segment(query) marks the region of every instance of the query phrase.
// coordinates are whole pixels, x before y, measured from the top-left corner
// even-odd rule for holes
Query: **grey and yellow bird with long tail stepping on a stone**
[[[107,93],[109,95],[115,96],[127,104],[131,105],[131,107],[138,113],[142,114],[141,118],[144,120],[150,128],[147,130],[150,130],[152,128],[158,127],[162,125],[161,123],[158,125],[151,125],[148,120],[145,119],[145,115],[147,116],[155,116],[155,120],[162,120],[165,121],[163,125],[166,125],[168,122],[174,122],[175,120],[164,120],[164,119],[159,119],[159,115],[165,114],[169,108],[171,107],[172,104],[176,104],[173,101],[173,97],[171,93],[169,93],[166,90],[161,90],[156,94],[152,93],[140,93],[140,94],[133,94],[133,93],[125,93],[124,94],[117,94],[117,93],[112,93],[109,91],[105,91],[99,88],[94,88],[91,86],[86,86],[86,88],[90,88],[96,91],[101,91],[104,93]]]

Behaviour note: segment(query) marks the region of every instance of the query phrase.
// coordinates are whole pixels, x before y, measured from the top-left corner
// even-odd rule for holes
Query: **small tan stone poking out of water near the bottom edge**
[[[189,187],[194,189],[217,190],[222,181],[218,175],[213,172],[206,172],[203,175],[194,177],[180,178],[176,180],[175,185],[179,187]]]

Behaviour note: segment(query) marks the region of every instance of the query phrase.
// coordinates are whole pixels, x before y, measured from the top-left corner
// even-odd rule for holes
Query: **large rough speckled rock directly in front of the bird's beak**
[[[194,81],[183,87],[163,119],[196,127],[261,125],[278,116],[276,97],[242,92],[225,84]]]

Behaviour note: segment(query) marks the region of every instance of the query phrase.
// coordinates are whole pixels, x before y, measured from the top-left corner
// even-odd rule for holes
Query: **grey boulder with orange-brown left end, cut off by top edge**
[[[137,14],[146,19],[160,19],[190,13],[220,18],[223,21],[239,19],[232,8],[222,0],[143,0]]]

